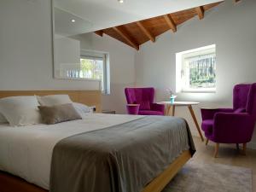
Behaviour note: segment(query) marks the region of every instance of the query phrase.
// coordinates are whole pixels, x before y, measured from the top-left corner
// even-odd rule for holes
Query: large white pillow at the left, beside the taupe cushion
[[[12,126],[41,123],[36,96],[10,96],[0,99],[0,113]]]

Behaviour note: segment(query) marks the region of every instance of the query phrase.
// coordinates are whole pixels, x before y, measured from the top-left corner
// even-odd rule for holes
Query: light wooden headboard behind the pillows
[[[0,98],[34,95],[68,95],[73,102],[80,102],[87,106],[96,106],[96,112],[102,112],[101,90],[0,90]]]

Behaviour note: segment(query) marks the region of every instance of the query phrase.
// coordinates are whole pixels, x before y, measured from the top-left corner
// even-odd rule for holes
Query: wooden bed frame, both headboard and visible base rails
[[[102,110],[100,90],[28,90],[28,91],[0,91],[0,98],[7,96],[46,96],[66,94],[73,102],[81,102],[88,106],[96,106],[96,112]],[[166,187],[183,165],[191,158],[189,150],[180,154],[176,160],[166,168],[158,177],[155,177],[142,192],[160,192]],[[0,192],[49,192],[32,183],[27,183],[20,177],[6,172],[0,172]]]

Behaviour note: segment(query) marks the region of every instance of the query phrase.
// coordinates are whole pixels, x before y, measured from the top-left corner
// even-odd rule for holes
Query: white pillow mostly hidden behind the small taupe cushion
[[[42,106],[53,106],[67,103],[73,103],[67,95],[50,95],[50,96],[37,96],[38,102]]]

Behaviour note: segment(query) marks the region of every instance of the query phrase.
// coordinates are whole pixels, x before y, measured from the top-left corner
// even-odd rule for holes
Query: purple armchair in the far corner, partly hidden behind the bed
[[[127,112],[129,114],[164,115],[165,106],[154,103],[154,88],[125,88]],[[138,111],[134,104],[138,104]]]

